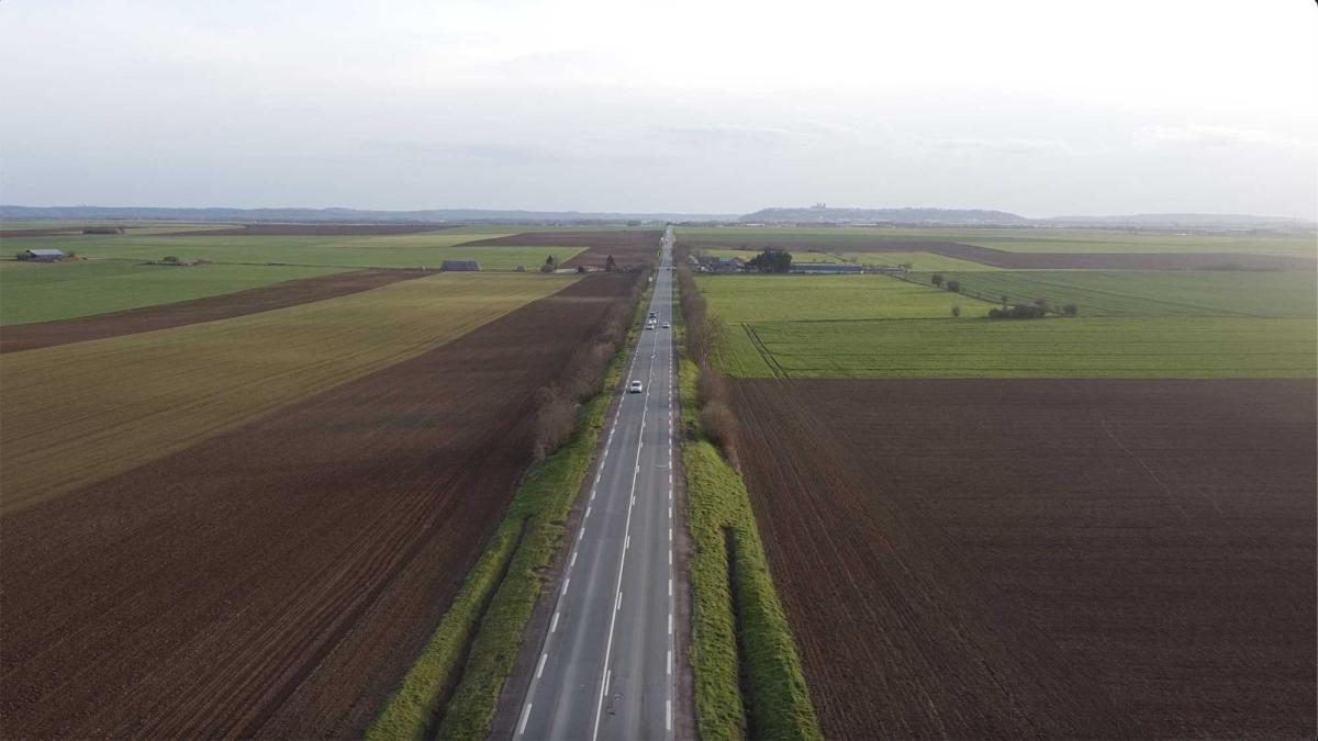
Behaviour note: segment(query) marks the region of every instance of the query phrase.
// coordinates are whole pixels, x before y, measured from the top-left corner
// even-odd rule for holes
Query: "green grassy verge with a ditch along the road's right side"
[[[675,323],[675,330],[685,338],[684,322]],[[701,429],[699,374],[700,367],[684,351],[677,378],[693,545],[696,732],[706,741],[821,738],[746,485]]]

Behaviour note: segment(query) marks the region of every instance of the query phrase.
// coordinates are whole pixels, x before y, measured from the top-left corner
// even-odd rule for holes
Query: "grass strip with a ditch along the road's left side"
[[[572,438],[531,465],[452,607],[366,730],[368,740],[426,738],[432,736],[436,717],[442,719],[434,733],[438,738],[477,740],[489,734],[500,694],[540,596],[540,574],[561,550],[568,510],[594,460],[605,414],[622,382],[648,295],[650,289],[637,301],[634,320],[609,361],[602,390],[581,405]],[[447,688],[455,683],[444,703]]]

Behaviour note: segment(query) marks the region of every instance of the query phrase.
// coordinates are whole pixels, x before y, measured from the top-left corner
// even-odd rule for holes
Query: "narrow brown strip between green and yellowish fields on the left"
[[[112,314],[0,327],[0,353],[136,335],[216,319],[232,319],[233,316],[361,293],[427,274],[431,273],[424,270],[335,273]]]

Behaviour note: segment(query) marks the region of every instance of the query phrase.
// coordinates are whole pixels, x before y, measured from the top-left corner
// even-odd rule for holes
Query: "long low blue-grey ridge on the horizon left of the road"
[[[613,214],[593,211],[518,211],[486,208],[430,208],[423,211],[370,211],[358,208],[138,208],[105,206],[0,206],[0,219],[123,220],[123,222],[290,222],[290,223],[386,223],[432,224],[513,222],[531,224],[581,224],[594,222],[708,222],[734,220],[733,214]]]

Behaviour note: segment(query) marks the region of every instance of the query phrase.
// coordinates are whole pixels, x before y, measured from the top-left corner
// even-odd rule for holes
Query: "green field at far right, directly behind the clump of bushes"
[[[912,276],[927,281],[928,273]],[[1193,270],[945,272],[962,290],[995,301],[1075,303],[1083,316],[1318,316],[1314,273]]]

